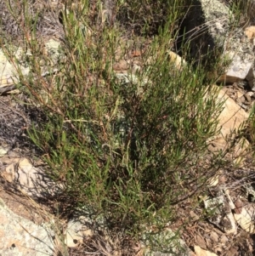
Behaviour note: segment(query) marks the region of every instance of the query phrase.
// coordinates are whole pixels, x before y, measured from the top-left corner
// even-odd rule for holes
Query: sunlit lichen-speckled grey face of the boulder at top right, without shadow
[[[230,61],[224,74],[219,74],[221,76],[218,78],[218,82],[233,83],[246,79],[252,88],[254,81],[252,44],[247,38],[244,38],[242,29],[233,28],[230,20],[235,20],[235,18],[223,3],[219,3],[217,0],[201,0],[201,6],[216,48],[223,47],[224,58]],[[218,20],[218,22],[212,20]]]

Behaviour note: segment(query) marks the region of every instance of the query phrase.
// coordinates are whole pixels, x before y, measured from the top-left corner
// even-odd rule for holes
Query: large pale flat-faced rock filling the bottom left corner
[[[0,255],[52,256],[51,233],[11,212],[0,198]]]

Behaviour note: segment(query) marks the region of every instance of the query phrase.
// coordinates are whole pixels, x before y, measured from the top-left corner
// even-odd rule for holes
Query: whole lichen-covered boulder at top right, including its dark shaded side
[[[229,66],[218,75],[218,82],[233,83],[246,79],[254,87],[252,43],[242,28],[235,28],[234,14],[218,0],[196,0],[181,27],[184,41],[190,44],[190,59],[202,60],[222,54]],[[252,37],[252,29],[246,32]],[[180,35],[182,37],[183,35]],[[179,46],[179,48],[181,48]],[[208,57],[209,56],[209,57]]]

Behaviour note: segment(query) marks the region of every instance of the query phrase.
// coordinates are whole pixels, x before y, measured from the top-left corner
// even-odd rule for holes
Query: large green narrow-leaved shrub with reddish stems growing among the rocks
[[[208,52],[180,71],[169,60],[167,52],[181,40],[179,27],[196,1],[110,2],[108,12],[101,1],[61,5],[57,71],[38,37],[40,12],[30,15],[29,1],[6,4],[31,52],[26,60],[31,73],[20,73],[17,86],[30,99],[27,107],[43,116],[27,134],[48,174],[64,185],[60,208],[71,213],[86,206],[104,216],[112,236],[139,241],[145,231],[150,236],[175,223],[185,203],[199,204],[210,179],[231,164],[224,152],[207,151],[222,110],[218,88],[212,87],[217,77],[207,74],[223,70],[224,61]],[[2,41],[19,71],[12,40]],[[189,43],[179,45],[189,53]],[[123,81],[113,66],[130,50],[142,53],[141,68],[129,68]],[[41,76],[42,60],[48,63],[47,77]],[[254,119],[249,122],[254,145]],[[151,240],[150,247],[162,244]]]

